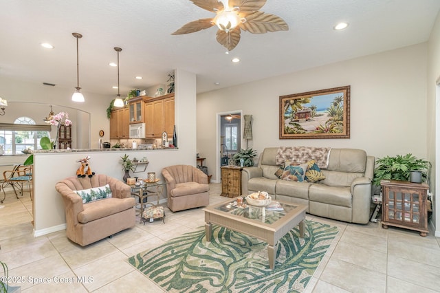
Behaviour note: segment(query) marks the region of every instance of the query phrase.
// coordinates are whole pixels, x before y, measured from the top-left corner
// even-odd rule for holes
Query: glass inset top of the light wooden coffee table
[[[242,206],[237,206],[236,201],[232,201],[221,204],[215,207],[214,210],[220,210],[245,219],[254,219],[265,224],[273,224],[296,208],[297,206],[293,204],[280,203],[274,200],[266,207],[251,206],[244,200]]]

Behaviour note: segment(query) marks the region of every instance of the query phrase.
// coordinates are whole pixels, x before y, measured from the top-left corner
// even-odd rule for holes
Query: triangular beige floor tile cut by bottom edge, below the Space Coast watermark
[[[77,276],[72,271],[66,272],[61,276],[54,277],[50,282],[36,284],[28,289],[22,290],[23,293],[84,293],[88,292]]]

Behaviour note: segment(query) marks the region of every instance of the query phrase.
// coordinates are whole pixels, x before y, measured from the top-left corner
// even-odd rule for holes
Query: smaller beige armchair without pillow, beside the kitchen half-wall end
[[[168,166],[162,169],[166,181],[168,208],[173,212],[209,204],[208,176],[190,165]]]

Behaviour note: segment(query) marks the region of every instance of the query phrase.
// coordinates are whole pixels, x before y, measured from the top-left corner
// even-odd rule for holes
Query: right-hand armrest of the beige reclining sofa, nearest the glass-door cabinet
[[[353,223],[367,224],[370,220],[371,207],[371,179],[358,177],[351,183],[352,221]]]

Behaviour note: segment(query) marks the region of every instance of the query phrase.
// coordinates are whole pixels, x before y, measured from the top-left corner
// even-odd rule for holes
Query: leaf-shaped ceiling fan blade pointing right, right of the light
[[[249,14],[246,21],[241,23],[240,28],[252,34],[264,34],[266,32],[289,30],[289,25],[281,17],[257,11]]]

